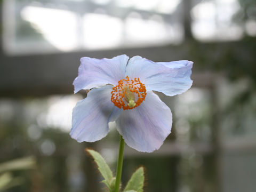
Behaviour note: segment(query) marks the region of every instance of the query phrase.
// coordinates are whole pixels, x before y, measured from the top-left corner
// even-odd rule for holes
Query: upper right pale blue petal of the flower
[[[126,75],[139,77],[147,91],[163,92],[168,96],[187,91],[192,82],[190,79],[192,61],[153,62],[140,56],[131,58],[126,67]]]

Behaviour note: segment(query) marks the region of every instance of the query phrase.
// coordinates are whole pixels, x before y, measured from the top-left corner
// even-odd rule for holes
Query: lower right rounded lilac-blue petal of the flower
[[[149,91],[140,106],[123,110],[116,123],[127,145],[138,151],[152,152],[161,147],[171,133],[172,113],[153,91]]]

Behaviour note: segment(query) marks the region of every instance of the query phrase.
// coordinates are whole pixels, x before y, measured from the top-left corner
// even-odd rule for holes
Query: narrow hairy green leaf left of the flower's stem
[[[113,173],[110,170],[105,159],[97,151],[94,151],[92,149],[86,149],[86,150],[94,158],[94,161],[97,163],[100,173],[102,174],[103,178],[106,180],[106,182],[108,182],[110,186],[111,180],[113,179]],[[104,181],[102,182],[106,184],[106,182]]]

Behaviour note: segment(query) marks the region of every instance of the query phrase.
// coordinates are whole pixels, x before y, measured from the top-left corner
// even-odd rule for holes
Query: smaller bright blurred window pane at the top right
[[[209,0],[195,4],[191,10],[193,35],[202,41],[241,39],[243,28],[233,18],[239,9],[237,0]]]

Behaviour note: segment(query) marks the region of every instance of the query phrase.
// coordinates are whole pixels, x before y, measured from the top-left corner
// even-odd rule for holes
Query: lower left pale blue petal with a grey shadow
[[[92,89],[73,109],[71,138],[78,142],[94,142],[109,132],[108,122],[115,121],[121,109],[111,102],[111,85]]]

